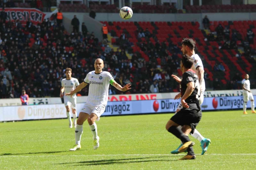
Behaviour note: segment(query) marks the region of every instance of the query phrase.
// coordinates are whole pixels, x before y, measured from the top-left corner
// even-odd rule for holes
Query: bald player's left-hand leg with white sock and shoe
[[[70,149],[70,151],[81,149],[81,136],[83,133],[83,123],[85,120],[89,118],[89,116],[90,116],[89,114],[84,112],[79,113],[79,116],[76,122],[77,123],[76,128],[75,128],[75,145],[73,146],[73,148]]]

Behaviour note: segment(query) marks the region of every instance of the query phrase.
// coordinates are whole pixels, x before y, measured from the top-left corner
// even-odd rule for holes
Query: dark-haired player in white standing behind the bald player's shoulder
[[[70,114],[70,107],[72,108],[72,113],[73,113],[73,124],[74,127],[76,127],[76,94],[74,94],[72,97],[71,96],[63,96],[64,92],[65,93],[70,93],[73,91],[77,86],[79,86],[79,81],[73,77],[72,75],[72,69],[67,68],[65,70],[66,73],[66,78],[61,80],[61,93],[60,97],[64,97],[64,104],[66,107],[66,114],[67,118],[69,121],[69,127],[72,128],[72,120],[71,120],[71,114]]]

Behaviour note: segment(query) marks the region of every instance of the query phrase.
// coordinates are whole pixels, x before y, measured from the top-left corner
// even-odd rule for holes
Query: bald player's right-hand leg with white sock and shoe
[[[98,136],[98,131],[97,131],[97,124],[95,120],[98,118],[98,116],[95,113],[92,113],[89,118],[87,119],[89,127],[92,131],[93,135],[93,149],[96,150],[99,148],[100,143],[99,143],[99,136]]]

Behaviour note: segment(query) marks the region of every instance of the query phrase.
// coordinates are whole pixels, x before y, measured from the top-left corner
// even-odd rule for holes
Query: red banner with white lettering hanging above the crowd
[[[7,13],[7,21],[20,20],[21,24],[26,24],[29,18],[35,24],[43,22],[45,18],[45,13],[35,8],[4,8],[4,10]]]

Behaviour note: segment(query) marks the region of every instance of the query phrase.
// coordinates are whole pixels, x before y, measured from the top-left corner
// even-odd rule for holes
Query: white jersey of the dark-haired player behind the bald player
[[[61,86],[64,87],[64,94],[70,93],[71,91],[75,90],[75,88],[79,85],[79,81],[75,78],[71,78],[70,80],[62,79]],[[64,98],[71,98],[70,96],[63,96]],[[72,98],[76,99],[76,94],[72,96]]]

